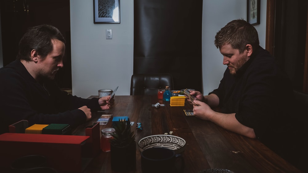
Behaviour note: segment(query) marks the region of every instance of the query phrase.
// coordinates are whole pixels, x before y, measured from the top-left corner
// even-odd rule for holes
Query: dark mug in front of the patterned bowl
[[[183,172],[184,159],[181,154],[175,154],[168,148],[148,148],[141,152],[141,169],[142,173]]]

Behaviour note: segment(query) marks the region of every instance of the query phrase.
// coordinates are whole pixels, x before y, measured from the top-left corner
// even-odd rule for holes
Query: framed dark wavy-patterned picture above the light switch
[[[120,23],[120,0],[93,0],[94,23]]]

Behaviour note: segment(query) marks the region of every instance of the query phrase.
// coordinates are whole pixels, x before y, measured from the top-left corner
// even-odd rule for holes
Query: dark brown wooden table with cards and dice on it
[[[91,96],[90,98],[95,97]],[[152,104],[165,104],[155,108]],[[184,109],[192,109],[185,103],[184,107],[170,107],[169,102],[157,99],[157,96],[116,96],[111,110],[93,113],[91,121],[79,126],[74,135],[84,135],[84,128],[92,125],[102,114],[128,116],[135,122],[132,130],[136,134],[136,143],[149,135],[158,135],[173,131],[172,135],[186,140],[183,153],[186,173],[197,173],[209,168],[228,169],[241,172],[302,172],[276,155],[259,142],[242,135],[227,131],[212,122],[185,116]],[[136,123],[142,123],[143,130],[136,130]],[[100,125],[100,129],[111,127]],[[141,173],[140,151],[136,145],[136,173]],[[110,152],[101,152],[94,157],[84,173],[107,173],[111,171]]]

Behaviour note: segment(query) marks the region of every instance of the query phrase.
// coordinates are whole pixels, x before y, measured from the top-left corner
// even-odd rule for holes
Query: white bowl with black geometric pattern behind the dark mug
[[[176,154],[184,151],[186,141],[173,135],[147,136],[138,142],[139,150],[142,152],[147,148],[164,147],[173,150]]]

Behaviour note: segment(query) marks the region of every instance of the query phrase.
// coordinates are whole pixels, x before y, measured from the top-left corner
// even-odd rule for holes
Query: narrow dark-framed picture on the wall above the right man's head
[[[247,0],[247,22],[260,24],[260,0]]]

